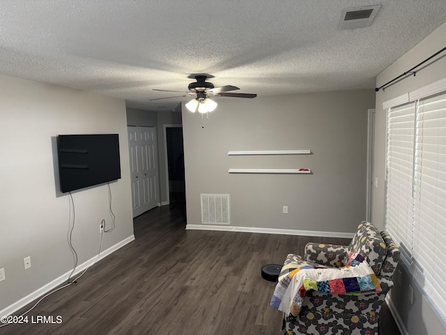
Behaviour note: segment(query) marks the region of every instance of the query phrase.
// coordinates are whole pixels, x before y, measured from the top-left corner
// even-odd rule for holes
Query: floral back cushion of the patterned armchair
[[[375,274],[379,274],[387,255],[387,247],[380,232],[363,221],[357,226],[357,231],[348,245],[348,254],[359,253],[369,263]]]

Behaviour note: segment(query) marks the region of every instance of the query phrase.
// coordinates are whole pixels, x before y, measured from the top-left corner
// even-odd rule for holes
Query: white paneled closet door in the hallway
[[[158,205],[156,130],[128,127],[133,217]]]

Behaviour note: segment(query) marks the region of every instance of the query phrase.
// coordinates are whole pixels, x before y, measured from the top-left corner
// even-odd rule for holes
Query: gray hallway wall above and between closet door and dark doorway
[[[180,110],[180,107],[177,108]],[[168,204],[169,184],[167,183],[164,125],[182,124],[181,112],[137,110],[127,108],[128,126],[155,127],[157,132],[158,172],[160,178],[160,203]]]

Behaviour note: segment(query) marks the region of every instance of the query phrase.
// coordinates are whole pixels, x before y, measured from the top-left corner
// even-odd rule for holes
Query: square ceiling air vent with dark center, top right
[[[371,25],[381,5],[342,10],[337,30],[365,28]]]

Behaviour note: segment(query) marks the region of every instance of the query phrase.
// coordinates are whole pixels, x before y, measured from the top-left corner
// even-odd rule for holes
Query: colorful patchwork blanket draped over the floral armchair
[[[353,262],[341,268],[318,265],[284,266],[272,295],[270,306],[297,316],[305,292],[314,290],[332,295],[360,295],[381,292],[378,278],[367,262]]]

